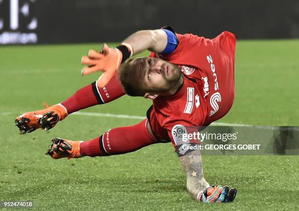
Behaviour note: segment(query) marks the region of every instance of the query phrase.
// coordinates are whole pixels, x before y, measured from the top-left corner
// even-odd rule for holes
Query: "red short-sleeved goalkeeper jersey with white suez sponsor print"
[[[184,83],[176,94],[153,100],[147,114],[155,136],[174,146],[176,126],[210,125],[228,113],[235,95],[234,34],[225,31],[212,40],[192,34],[176,36],[179,43],[171,54],[149,57],[177,64]]]

